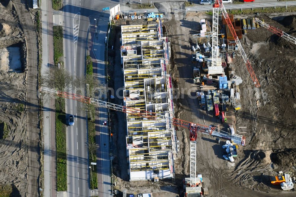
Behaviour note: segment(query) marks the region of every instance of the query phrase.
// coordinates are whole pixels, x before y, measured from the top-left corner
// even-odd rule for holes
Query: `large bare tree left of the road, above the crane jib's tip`
[[[67,70],[52,66],[45,72],[44,77],[41,79],[41,83],[45,87],[58,91],[65,91],[66,88],[71,86],[72,80],[73,77]]]

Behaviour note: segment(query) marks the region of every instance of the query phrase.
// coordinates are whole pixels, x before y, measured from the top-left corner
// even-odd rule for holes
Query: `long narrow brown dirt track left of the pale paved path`
[[[32,3],[31,1],[29,1]],[[38,196],[39,193],[39,120],[38,120],[38,48],[37,36],[33,20],[31,18],[28,2],[26,0],[14,0],[20,24],[25,34],[27,45],[27,92],[26,114],[28,128],[28,174],[27,195]]]

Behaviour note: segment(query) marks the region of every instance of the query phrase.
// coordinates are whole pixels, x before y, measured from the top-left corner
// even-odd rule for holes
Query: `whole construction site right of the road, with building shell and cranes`
[[[213,14],[183,20],[169,7],[184,4],[155,6],[159,13],[116,21],[120,54],[111,56],[110,76],[123,76],[124,99],[115,103],[128,112],[113,120],[126,120],[122,131],[114,126],[115,189],[295,196],[296,17],[234,16],[217,1]]]

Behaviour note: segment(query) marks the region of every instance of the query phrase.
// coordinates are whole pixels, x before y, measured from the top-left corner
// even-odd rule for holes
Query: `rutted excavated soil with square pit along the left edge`
[[[11,1],[0,4],[0,122],[8,135],[0,139],[1,185],[12,185],[11,196],[25,196],[28,139],[25,116],[25,38]],[[3,125],[3,123],[2,123]],[[2,127],[3,129],[3,127]]]

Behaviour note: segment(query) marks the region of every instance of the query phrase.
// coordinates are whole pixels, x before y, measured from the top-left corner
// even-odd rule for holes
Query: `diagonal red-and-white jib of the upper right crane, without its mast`
[[[233,25],[231,23],[231,20],[230,20],[230,18],[228,16],[228,13],[227,13],[226,9],[225,9],[225,7],[224,7],[224,5],[222,3],[222,0],[216,0],[215,4],[213,4],[213,7],[216,7],[216,6],[220,7],[221,12],[223,14],[223,17],[225,18],[226,24],[227,24],[231,34],[233,35],[233,37],[235,39],[235,43],[236,43],[236,45],[237,45],[237,47],[239,49],[240,54],[242,55],[242,58],[243,58],[244,62],[246,63],[247,70],[249,71],[249,73],[251,75],[253,83],[254,83],[255,87],[259,88],[260,83],[259,83],[259,81],[258,81],[258,79],[257,79],[257,77],[255,75],[255,72],[254,72],[254,70],[252,68],[252,65],[251,65],[251,63],[250,63],[250,61],[249,61],[249,59],[247,57],[247,54],[244,52],[244,48],[242,47],[242,44],[240,43],[239,38],[237,37],[237,33],[235,33],[234,27],[233,27]]]

